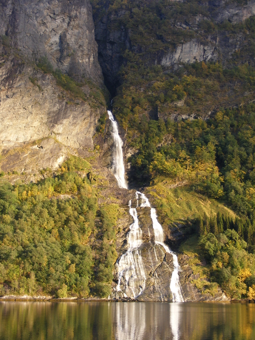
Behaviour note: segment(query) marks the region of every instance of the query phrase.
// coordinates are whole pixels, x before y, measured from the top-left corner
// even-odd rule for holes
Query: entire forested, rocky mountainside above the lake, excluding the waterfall
[[[135,209],[137,300],[173,300],[167,247],[186,301],[255,299],[255,1],[91,3],[0,1],[0,294],[128,299]]]

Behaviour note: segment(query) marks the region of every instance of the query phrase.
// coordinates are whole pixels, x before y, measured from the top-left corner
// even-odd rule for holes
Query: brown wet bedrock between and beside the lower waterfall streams
[[[133,202],[133,206],[136,206],[135,202]],[[127,208],[125,210],[127,213],[126,216],[128,216]],[[128,220],[125,220],[125,228],[123,228],[118,235],[117,243],[118,255],[121,256],[124,254],[124,259],[122,258],[122,261],[126,262],[125,273],[121,277],[119,282],[118,273],[115,272],[111,298],[123,301],[127,299],[124,292],[127,291],[125,278],[128,278],[130,295],[132,294],[132,290],[134,291],[134,295],[135,293],[139,293],[139,291],[142,290],[142,293],[136,297],[137,301],[171,302],[172,294],[170,291],[170,281],[174,269],[173,257],[161,244],[157,244],[154,241],[154,231],[153,223],[150,216],[150,208],[139,207],[136,208],[136,210],[139,220],[139,226],[142,230],[143,243],[138,249],[132,250],[132,256],[126,255],[128,249],[126,236],[129,232],[127,223],[132,223],[133,221],[131,221],[130,218]],[[168,232],[168,234],[170,234],[170,231]],[[167,239],[165,239],[165,241],[166,240]],[[136,266],[136,275],[134,275],[134,271],[131,269],[131,267],[130,270],[128,270],[129,265],[132,266],[132,261],[134,261],[133,265]],[[228,301],[228,298],[225,296],[220,288],[218,288],[214,296],[209,293],[202,294],[201,291],[195,287],[192,281],[197,279],[198,277],[193,274],[192,269],[188,264],[189,257],[187,255],[178,255],[178,261],[181,267],[179,272],[179,279],[182,289],[182,295],[186,302]]]

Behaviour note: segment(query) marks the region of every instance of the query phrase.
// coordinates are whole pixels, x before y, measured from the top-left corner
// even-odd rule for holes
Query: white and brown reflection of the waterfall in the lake
[[[184,337],[186,324],[183,315],[184,311],[187,310],[185,308],[189,306],[142,302],[138,304],[115,303],[112,305],[112,315],[115,318],[114,338],[115,340],[189,339],[187,336]],[[190,314],[188,315],[190,316]],[[180,328],[183,323],[184,327]]]

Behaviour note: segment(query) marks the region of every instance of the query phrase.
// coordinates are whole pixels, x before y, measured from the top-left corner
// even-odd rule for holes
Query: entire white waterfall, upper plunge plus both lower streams
[[[112,123],[112,136],[114,140],[112,172],[117,179],[119,187],[127,189],[128,186],[125,179],[125,169],[122,153],[123,142],[119,136],[118,124],[114,120],[111,111],[108,111],[108,116]],[[141,202],[140,205],[139,201]],[[156,262],[155,270],[152,275],[154,280],[153,282],[156,283],[155,288],[156,290],[158,290],[158,294],[161,296],[161,300],[163,301],[161,285],[162,279],[160,279],[160,277],[157,274],[157,267],[160,264],[160,260],[158,258],[159,256],[162,257],[164,255],[165,259],[166,254],[170,254],[172,256],[173,265],[173,271],[171,271],[171,279],[169,286],[171,292],[171,301],[184,302],[179,282],[180,266],[178,264],[177,255],[174,254],[170,250],[170,248],[164,243],[164,232],[161,224],[157,220],[156,210],[151,207],[149,199],[139,191],[136,191],[136,208],[132,207],[132,201],[131,200],[129,201],[129,213],[133,218],[133,223],[130,225],[129,232],[127,234],[128,250],[126,251],[126,253],[121,255],[116,262],[118,284],[117,287],[115,287],[114,292],[112,293],[112,297],[117,299],[123,297],[136,299],[144,292],[146,288],[146,281],[149,279],[149,277],[148,273],[146,273],[145,268],[146,265],[142,257],[144,243],[142,240],[142,229],[139,226],[139,219],[136,210],[137,208],[145,207],[150,209],[150,217],[154,232],[154,246],[153,248],[148,249],[148,251],[152,267],[153,267],[153,259],[151,257],[152,254]],[[162,269],[163,274],[166,271],[170,271],[170,267],[166,263],[166,261],[164,262],[164,265],[165,268]]]

